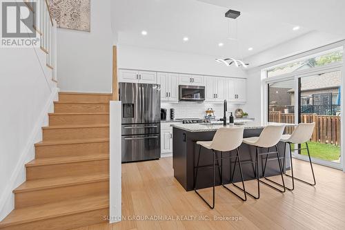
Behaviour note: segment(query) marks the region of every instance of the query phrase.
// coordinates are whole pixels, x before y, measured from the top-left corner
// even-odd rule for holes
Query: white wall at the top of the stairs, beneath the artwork
[[[90,32],[58,28],[57,39],[61,91],[111,93],[110,0],[91,1]]]

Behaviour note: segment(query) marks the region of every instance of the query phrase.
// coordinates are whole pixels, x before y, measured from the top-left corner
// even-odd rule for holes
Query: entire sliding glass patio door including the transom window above
[[[342,47],[262,70],[268,122],[315,123],[308,142],[313,162],[342,168]],[[293,133],[286,128],[285,133]],[[293,146],[294,148],[305,148]],[[306,150],[293,156],[308,160]]]

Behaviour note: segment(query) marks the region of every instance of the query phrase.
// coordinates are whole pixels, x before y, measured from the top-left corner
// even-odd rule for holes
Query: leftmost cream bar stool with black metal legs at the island
[[[208,207],[210,207],[210,209],[214,209],[215,208],[215,161],[217,160],[217,167],[219,169],[219,176],[221,178],[221,185],[224,186],[224,188],[228,189],[228,191],[234,193],[235,195],[237,195],[235,192],[233,192],[232,190],[230,190],[228,187],[226,187],[223,184],[223,160],[224,159],[228,159],[236,157],[235,160],[235,165],[238,162],[239,164],[239,173],[241,174],[241,180],[242,180],[242,186],[243,189],[240,188],[239,186],[235,185],[238,189],[241,189],[244,192],[244,198],[240,197],[239,195],[237,195],[239,198],[241,198],[242,200],[246,201],[247,200],[247,196],[246,196],[246,190],[244,188],[244,179],[243,179],[243,173],[242,173],[242,165],[241,165],[241,159],[239,157],[239,151],[238,148],[239,146],[242,144],[242,140],[243,140],[243,133],[244,133],[244,128],[243,127],[239,127],[239,128],[219,128],[218,131],[215,133],[215,136],[213,137],[212,141],[209,142],[197,142],[197,144],[199,144],[199,156],[197,158],[197,166],[195,167],[196,169],[196,173],[195,173],[195,178],[194,178],[194,191],[195,193],[197,193],[197,195],[199,195],[199,197],[204,200],[204,202],[208,205]],[[201,146],[207,149],[210,149],[213,151],[213,164],[212,165],[206,165],[206,166],[199,166],[199,160],[200,160],[200,153],[201,153]],[[236,156],[229,156],[229,157],[223,157],[223,152],[230,152],[236,150]],[[221,152],[221,157],[220,158],[216,158],[216,151]],[[218,160],[221,160],[221,165],[219,166],[219,162]],[[210,168],[213,169],[213,204],[210,205],[197,191],[196,189],[196,185],[197,185],[197,174],[199,169],[202,168]],[[233,176],[231,177],[231,181],[230,183],[233,184]]]

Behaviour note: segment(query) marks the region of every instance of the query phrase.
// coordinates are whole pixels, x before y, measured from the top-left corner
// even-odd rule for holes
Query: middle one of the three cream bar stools
[[[286,191],[285,186],[283,186],[284,190],[280,190],[280,189],[277,189],[275,186],[272,186],[272,185],[267,184],[266,182],[260,180],[260,173],[259,173],[259,156],[260,155],[266,155],[266,162],[267,162],[268,155],[277,154],[277,158],[270,159],[270,160],[278,160],[280,174],[282,175],[282,182],[285,185],[284,177],[283,177],[282,163],[280,162],[279,151],[278,151],[278,147],[277,147],[279,140],[282,139],[284,128],[285,128],[284,125],[266,126],[259,137],[248,137],[248,138],[244,138],[244,140],[243,140],[243,142],[245,144],[249,144],[249,145],[256,147],[255,172],[254,173],[255,173],[256,180],[257,180],[257,196],[255,196],[251,193],[248,193],[248,191],[247,191],[248,195],[251,195],[255,199],[260,198],[260,182],[262,182],[263,184],[266,184],[267,186],[270,186],[270,188],[275,189],[281,193],[284,193]],[[270,152],[270,148],[272,148],[273,146],[275,146],[275,151]],[[259,148],[268,148],[268,151],[266,153],[259,153]],[[265,165],[265,169],[266,169],[266,165]],[[265,169],[263,168],[263,177],[265,175]],[[266,177],[264,177],[264,178],[267,179]],[[272,180],[270,180],[270,181],[273,182]]]

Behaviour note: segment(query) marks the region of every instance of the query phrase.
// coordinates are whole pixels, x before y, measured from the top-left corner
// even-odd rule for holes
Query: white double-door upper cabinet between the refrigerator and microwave
[[[157,84],[161,85],[161,101],[179,101],[179,75],[177,73],[157,73]]]

